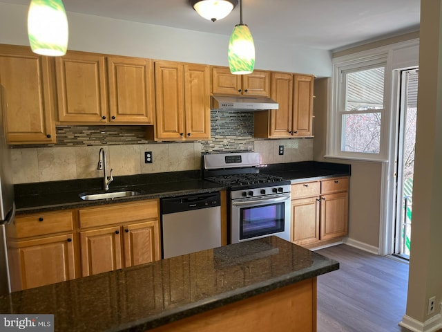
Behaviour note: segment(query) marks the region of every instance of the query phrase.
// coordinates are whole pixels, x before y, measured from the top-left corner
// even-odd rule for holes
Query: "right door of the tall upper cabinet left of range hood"
[[[209,66],[184,65],[186,139],[210,138]]]

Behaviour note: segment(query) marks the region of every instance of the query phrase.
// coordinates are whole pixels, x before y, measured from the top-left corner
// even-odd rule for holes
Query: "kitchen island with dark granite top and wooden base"
[[[316,331],[327,259],[278,237],[0,297],[0,313],[54,314],[55,331]]]

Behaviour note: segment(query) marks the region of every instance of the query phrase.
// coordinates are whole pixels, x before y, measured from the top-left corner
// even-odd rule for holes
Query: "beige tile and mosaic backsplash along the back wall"
[[[57,144],[12,149],[14,183],[95,178],[98,152],[106,150],[113,176],[200,169],[201,155],[225,151],[260,152],[262,164],[313,160],[313,140],[253,138],[253,112],[212,111],[211,140],[152,142],[143,126],[59,126]],[[278,146],[285,154],[278,155]],[[152,151],[153,163],[144,163]]]

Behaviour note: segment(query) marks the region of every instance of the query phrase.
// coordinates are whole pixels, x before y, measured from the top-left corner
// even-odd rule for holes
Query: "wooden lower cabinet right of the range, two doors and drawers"
[[[348,232],[349,178],[291,185],[291,241],[313,248]]]

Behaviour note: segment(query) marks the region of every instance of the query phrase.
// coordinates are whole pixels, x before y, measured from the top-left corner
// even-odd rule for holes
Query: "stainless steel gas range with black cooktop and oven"
[[[207,154],[203,177],[229,188],[229,243],[269,235],[290,241],[290,181],[259,172],[256,152]]]

